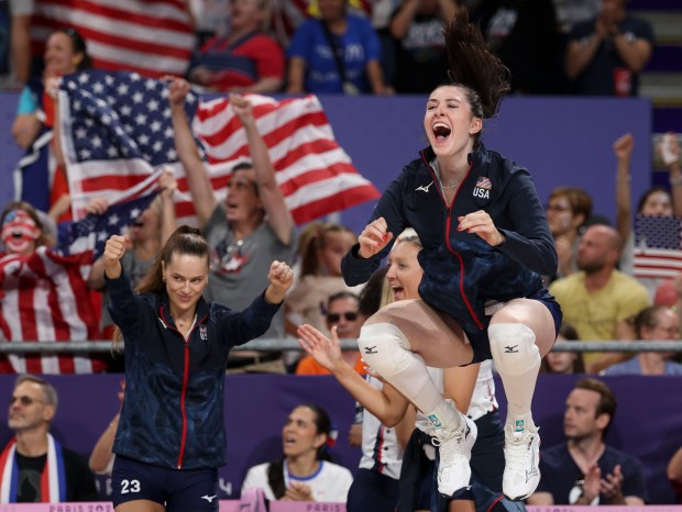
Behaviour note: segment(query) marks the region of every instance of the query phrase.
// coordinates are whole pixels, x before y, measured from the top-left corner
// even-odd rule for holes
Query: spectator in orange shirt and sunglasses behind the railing
[[[324,321],[327,329],[337,327],[339,340],[358,340],[360,327],[366,319],[359,311],[358,296],[350,291],[334,293],[327,301],[327,312]],[[355,368],[360,375],[364,375],[364,363],[358,349],[343,350],[342,356],[345,361]],[[319,365],[310,355],[304,357],[296,367],[296,375],[331,375],[331,372]]]

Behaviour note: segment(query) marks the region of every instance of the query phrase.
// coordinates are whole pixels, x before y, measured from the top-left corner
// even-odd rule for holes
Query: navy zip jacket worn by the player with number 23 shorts
[[[125,400],[113,453],[165,468],[223,466],[228,353],[263,335],[279,304],[261,294],[242,312],[201,298],[185,342],[165,292],[136,294],[124,276],[107,279],[107,288],[125,342]]]

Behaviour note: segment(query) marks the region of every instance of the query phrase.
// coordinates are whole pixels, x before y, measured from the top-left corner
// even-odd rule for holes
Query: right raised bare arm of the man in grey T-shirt
[[[289,209],[284,200],[284,193],[282,193],[282,189],[275,178],[275,168],[270,159],[265,141],[263,141],[255,123],[253,105],[248,98],[241,94],[230,94],[230,104],[246,132],[249,153],[251,154],[258,194],[265,208],[267,223],[277,234],[277,238],[283,244],[289,245],[294,231],[294,219],[289,213]]]

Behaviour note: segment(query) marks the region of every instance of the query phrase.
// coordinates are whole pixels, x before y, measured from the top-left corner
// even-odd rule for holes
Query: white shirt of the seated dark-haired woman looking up
[[[287,470],[286,460],[284,464],[284,483],[286,487],[293,481],[298,481],[310,486],[312,489],[312,498],[315,501],[328,502],[328,503],[345,503],[348,499],[348,490],[353,482],[353,475],[343,466],[338,464],[320,460],[319,469],[309,477],[297,478],[289,475]],[[267,483],[267,468],[271,463],[258,464],[253,466],[246,472],[244,482],[242,483],[242,493],[246,489],[260,488],[263,489],[265,498],[270,501],[276,500],[273,490]]]

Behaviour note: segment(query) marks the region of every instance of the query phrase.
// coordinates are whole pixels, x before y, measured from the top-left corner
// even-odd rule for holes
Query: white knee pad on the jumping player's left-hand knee
[[[403,331],[389,323],[364,325],[358,346],[363,360],[383,377],[404,371],[415,357]]]

